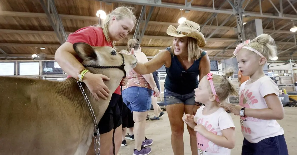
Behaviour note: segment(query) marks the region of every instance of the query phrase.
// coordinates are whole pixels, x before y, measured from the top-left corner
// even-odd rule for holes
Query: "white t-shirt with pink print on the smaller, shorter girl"
[[[216,134],[222,135],[221,130],[234,127],[231,116],[223,109],[219,108],[217,111],[210,115],[203,115],[202,110],[205,106],[198,108],[194,122],[196,124],[202,124],[206,130]],[[218,146],[209,141],[197,132],[197,146],[198,155],[230,155],[231,149]],[[200,151],[200,152],[199,152]]]

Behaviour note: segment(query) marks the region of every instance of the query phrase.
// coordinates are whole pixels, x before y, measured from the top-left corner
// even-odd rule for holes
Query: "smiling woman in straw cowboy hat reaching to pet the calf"
[[[194,89],[199,81],[210,72],[210,61],[204,47],[204,35],[199,24],[186,20],[178,28],[170,25],[167,34],[173,36],[173,44],[146,63],[138,62],[134,71],[148,74],[166,67],[164,102],[171,127],[171,146],[175,155],[184,154],[184,113],[194,115],[200,107],[195,103]],[[131,54],[133,54],[133,49]],[[199,80],[198,80],[199,76]],[[187,125],[190,134],[191,151],[198,154],[196,132]]]

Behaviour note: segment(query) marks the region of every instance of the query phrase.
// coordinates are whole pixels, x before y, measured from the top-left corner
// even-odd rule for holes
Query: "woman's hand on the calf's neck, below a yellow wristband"
[[[90,72],[87,72],[83,77],[83,83],[86,84],[97,100],[99,100],[99,96],[105,100],[109,96],[109,89],[103,80],[110,80],[110,78],[102,74],[93,74]]]

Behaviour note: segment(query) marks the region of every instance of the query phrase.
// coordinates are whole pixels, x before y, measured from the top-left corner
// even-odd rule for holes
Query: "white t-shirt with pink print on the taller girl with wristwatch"
[[[279,96],[277,84],[268,76],[263,76],[251,84],[247,84],[248,81],[242,83],[239,89],[239,105],[242,107],[268,108],[264,96],[268,94]],[[250,143],[258,143],[265,138],[284,134],[284,130],[276,120],[263,120],[246,116],[240,117],[240,124],[244,138]]]

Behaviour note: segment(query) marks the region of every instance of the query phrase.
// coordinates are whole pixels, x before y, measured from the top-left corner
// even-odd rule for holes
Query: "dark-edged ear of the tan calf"
[[[73,49],[83,60],[90,61],[97,59],[97,55],[94,51],[94,48],[89,44],[83,42],[74,43]]]

